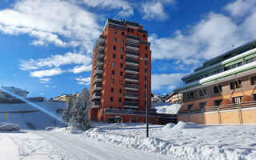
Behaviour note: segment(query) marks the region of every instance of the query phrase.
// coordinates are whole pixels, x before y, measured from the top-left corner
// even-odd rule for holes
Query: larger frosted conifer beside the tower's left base
[[[74,101],[74,106],[70,110],[71,126],[80,130],[87,130],[91,127],[90,119],[88,118],[88,112],[91,108],[90,91],[84,88],[82,93]]]

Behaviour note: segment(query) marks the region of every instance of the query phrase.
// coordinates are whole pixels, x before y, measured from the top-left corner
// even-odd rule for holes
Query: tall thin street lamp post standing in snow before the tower
[[[139,58],[146,62],[146,138],[149,137],[149,102],[148,102],[148,77],[149,77],[149,66],[148,58]]]

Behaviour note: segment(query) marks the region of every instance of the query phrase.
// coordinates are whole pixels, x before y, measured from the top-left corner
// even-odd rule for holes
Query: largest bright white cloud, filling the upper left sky
[[[35,38],[30,44],[36,46],[82,46],[90,53],[102,28],[97,19],[74,2],[21,0],[0,10],[0,31],[28,34]]]

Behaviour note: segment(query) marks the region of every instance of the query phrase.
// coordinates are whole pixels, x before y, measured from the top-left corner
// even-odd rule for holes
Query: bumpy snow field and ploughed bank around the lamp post
[[[178,159],[255,159],[256,126],[198,126],[179,122],[176,126],[145,124],[98,124],[82,137],[120,144],[128,148],[174,155]]]

